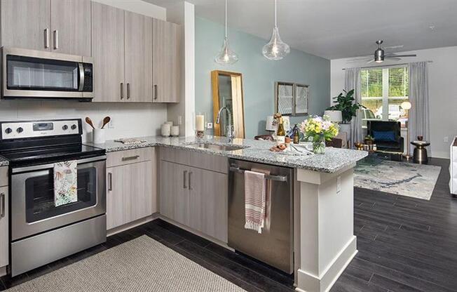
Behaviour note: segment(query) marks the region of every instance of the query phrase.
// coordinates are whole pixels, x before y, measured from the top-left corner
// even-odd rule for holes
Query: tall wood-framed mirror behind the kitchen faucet
[[[226,136],[228,115],[224,111],[220,124],[216,124],[217,114],[222,107],[231,112],[231,121],[236,138],[245,138],[245,114],[243,101],[243,77],[241,73],[215,70],[211,72],[212,107],[214,135]]]

